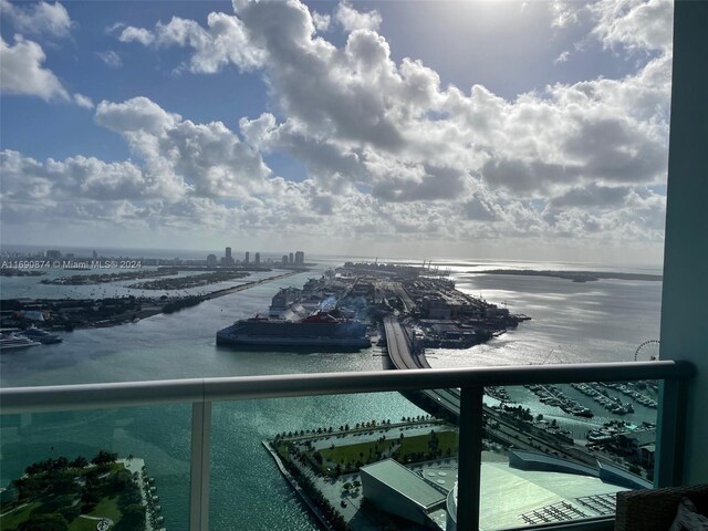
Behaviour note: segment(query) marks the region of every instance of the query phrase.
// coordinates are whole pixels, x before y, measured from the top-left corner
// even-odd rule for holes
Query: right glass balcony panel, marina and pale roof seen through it
[[[650,488],[655,383],[487,387],[480,529],[613,517]]]

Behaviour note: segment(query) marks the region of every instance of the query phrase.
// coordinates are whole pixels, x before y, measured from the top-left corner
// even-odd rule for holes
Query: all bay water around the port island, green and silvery
[[[111,329],[77,330],[64,334],[64,342],[59,345],[3,352],[0,354],[0,385],[383,369],[384,358],[376,347],[355,354],[292,354],[235,352],[216,346],[217,330],[267,310],[279,288],[300,287],[308,278],[344,260],[346,258],[320,259],[315,271],[206,301],[175,314],[156,315]],[[448,266],[462,291],[475,295],[481,293],[487,301],[499,305],[506,302],[511,312],[524,313],[532,321],[467,351],[430,351],[434,366],[628,361],[634,358],[639,343],[658,339],[660,282],[573,283],[561,279],[477,272],[511,267],[601,269],[587,264],[457,261],[445,267]],[[656,268],[641,270],[660,272]],[[12,279],[11,289],[4,280],[2,296],[9,298],[6,288],[8,293],[22,292],[30,296],[35,289],[32,283],[38,279]],[[61,296],[61,287],[51,288],[60,293],[56,296]],[[317,529],[261,447],[261,440],[283,430],[336,428],[345,423],[372,418],[395,420],[418,414],[421,412],[398,394],[215,404],[211,527]],[[133,454],[146,460],[150,475],[156,478],[166,528],[186,530],[189,419],[188,404],[3,416],[0,485],[7,485],[30,462],[50,456],[92,456],[100,448],[125,456]]]

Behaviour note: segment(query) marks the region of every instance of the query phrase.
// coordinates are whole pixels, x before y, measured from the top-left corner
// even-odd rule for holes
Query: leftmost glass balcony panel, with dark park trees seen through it
[[[3,415],[0,529],[60,513],[70,529],[105,518],[139,530],[143,514],[153,529],[187,530],[190,415],[191,405]],[[92,465],[100,452],[117,462]],[[30,471],[18,489],[12,481]]]

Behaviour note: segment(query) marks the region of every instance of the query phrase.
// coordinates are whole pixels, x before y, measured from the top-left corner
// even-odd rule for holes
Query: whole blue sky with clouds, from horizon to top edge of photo
[[[660,263],[673,4],[0,0],[2,243]]]

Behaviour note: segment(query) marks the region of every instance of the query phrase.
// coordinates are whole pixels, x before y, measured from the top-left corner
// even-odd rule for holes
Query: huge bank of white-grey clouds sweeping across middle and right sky
[[[131,223],[251,236],[278,227],[283,238],[340,240],[660,241],[664,197],[648,190],[665,181],[668,54],[647,55],[622,79],[558,83],[509,101],[481,85],[442,87],[420,61],[394,61],[376,12],[340,4],[335,17],[346,34],[335,45],[316,33],[322,19],[299,2],[235,3],[237,17],[211,13],[206,28],[174,18],[152,30],[112,31],[155,50],[190,50],[185,67],[195,73],[256,69],[273,112],[242,117],[233,132],[146,97],[102,102],[96,123],[118,133],[135,162],[104,167],[17,155],[24,191],[12,192],[31,202],[77,190],[73,202],[65,199],[71,208],[52,210],[61,216],[77,201],[88,211],[85,201],[102,200],[103,190],[119,201],[106,211]],[[558,6],[563,23],[580,24],[580,8]],[[628,48],[658,45],[620,37],[626,24],[602,35]],[[261,153],[301,162],[306,179],[274,176]],[[93,177],[76,177],[79,169]]]

